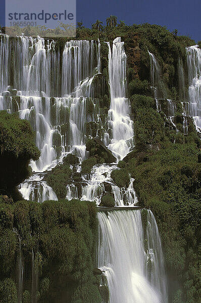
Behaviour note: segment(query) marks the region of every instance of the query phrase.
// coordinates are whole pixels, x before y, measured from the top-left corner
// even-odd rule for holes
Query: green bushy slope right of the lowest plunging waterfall
[[[200,302],[201,166],[196,145],[170,145],[146,153],[145,162],[130,159],[127,168],[135,178],[139,204],[150,208],[156,217],[171,277],[172,301],[181,291],[182,302]]]

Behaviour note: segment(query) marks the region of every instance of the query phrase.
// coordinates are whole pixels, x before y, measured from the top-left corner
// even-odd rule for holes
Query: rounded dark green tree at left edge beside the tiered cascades
[[[0,112],[0,193],[13,188],[29,176],[30,160],[38,160],[34,132],[28,121]]]

